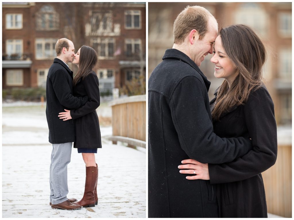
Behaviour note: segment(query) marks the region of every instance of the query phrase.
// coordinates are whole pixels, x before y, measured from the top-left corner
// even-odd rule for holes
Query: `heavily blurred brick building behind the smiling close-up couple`
[[[219,29],[231,24],[248,24],[261,36],[268,52],[264,83],[275,104],[278,124],[292,121],[292,3],[291,2],[177,2],[148,3],[148,76],[173,46],[173,22],[187,5],[205,7],[215,16]],[[211,81],[210,98],[223,79],[213,76],[209,54],[200,69]]]

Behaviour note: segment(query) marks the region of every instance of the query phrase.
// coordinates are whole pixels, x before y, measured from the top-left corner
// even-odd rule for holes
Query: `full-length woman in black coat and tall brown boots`
[[[101,148],[101,134],[96,109],[100,105],[99,81],[93,71],[96,68],[98,57],[96,51],[88,46],[82,46],[75,54],[73,64],[78,66],[74,77],[73,94],[76,97],[88,96],[89,101],[79,109],[65,110],[59,113],[64,121],[75,119],[76,142],[74,148],[81,153],[86,164],[86,183],[84,196],[75,202],[83,207],[93,207],[98,204],[97,181],[98,165],[95,161],[97,149]]]

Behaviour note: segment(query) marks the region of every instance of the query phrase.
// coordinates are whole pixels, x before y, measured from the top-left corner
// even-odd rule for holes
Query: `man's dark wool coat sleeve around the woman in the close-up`
[[[219,164],[243,156],[252,148],[251,140],[216,136],[206,96],[206,87],[195,76],[183,78],[174,89],[170,109],[181,148],[201,163]]]

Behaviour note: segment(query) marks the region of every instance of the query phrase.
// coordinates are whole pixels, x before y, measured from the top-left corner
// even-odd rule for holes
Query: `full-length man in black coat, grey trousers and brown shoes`
[[[76,140],[73,120],[62,121],[58,115],[64,109],[78,109],[87,97],[72,95],[73,71],[66,64],[72,62],[74,44],[61,38],[55,45],[57,58],[51,65],[46,82],[46,117],[49,127],[49,142],[53,149],[50,164],[50,205],[52,209],[75,210],[82,206],[73,204],[77,199],[68,199],[67,164],[71,160],[72,142]]]

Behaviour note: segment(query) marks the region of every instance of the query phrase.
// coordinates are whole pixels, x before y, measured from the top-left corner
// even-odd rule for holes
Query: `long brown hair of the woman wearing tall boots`
[[[89,46],[82,46],[80,50],[80,59],[78,65],[78,71],[74,77],[74,86],[79,79],[84,79],[92,71],[95,71],[98,65],[98,57],[96,51]]]

